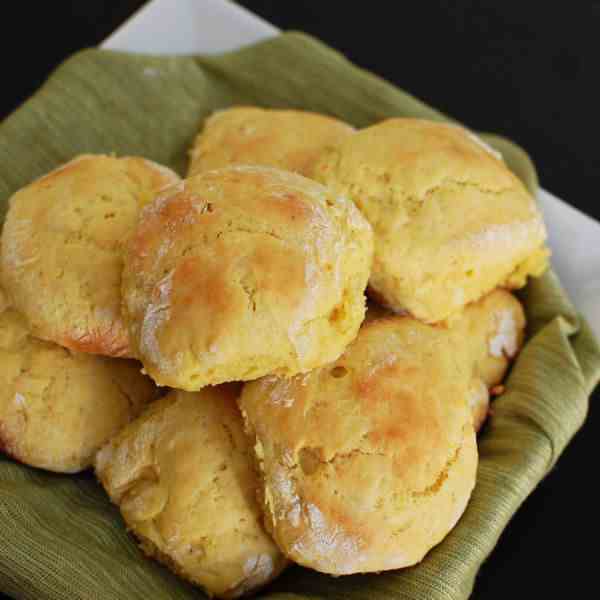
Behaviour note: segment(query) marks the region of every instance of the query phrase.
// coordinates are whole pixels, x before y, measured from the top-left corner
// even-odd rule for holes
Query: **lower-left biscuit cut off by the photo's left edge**
[[[0,450],[34,467],[75,473],[157,388],[138,363],[90,356],[32,337],[0,314]]]

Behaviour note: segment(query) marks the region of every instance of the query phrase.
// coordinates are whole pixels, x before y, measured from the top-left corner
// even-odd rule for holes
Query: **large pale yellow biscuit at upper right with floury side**
[[[439,322],[547,266],[534,199],[504,163],[455,125],[389,119],[327,151],[311,174],[373,226],[374,297]]]

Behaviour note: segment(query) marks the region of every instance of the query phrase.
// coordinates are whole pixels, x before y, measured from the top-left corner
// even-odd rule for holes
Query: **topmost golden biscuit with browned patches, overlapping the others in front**
[[[355,206],[267,167],[209,171],[141,214],[125,254],[133,348],[160,385],[294,375],[364,317],[372,232]]]

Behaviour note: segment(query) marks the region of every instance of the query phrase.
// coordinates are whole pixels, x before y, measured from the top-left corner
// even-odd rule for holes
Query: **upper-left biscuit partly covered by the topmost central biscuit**
[[[10,199],[2,277],[35,336],[129,356],[121,319],[122,245],[139,209],[175,173],[143,158],[80,156]]]

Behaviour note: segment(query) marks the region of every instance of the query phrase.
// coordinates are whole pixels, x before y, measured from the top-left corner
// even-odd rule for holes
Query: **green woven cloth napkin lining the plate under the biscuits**
[[[446,118],[298,33],[216,57],[86,50],[0,125],[2,218],[16,189],[82,152],[140,154],[183,173],[203,119],[240,103],[329,113],[358,127],[393,115]],[[535,192],[526,154],[487,139]],[[522,299],[528,342],[481,436],[477,486],[454,531],[416,567],[338,579],[293,567],[261,597],[468,597],[511,516],[582,425],[600,375],[600,349],[553,273]],[[142,557],[90,474],[52,475],[4,456],[0,590],[31,600],[204,597]]]

